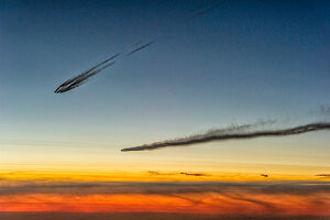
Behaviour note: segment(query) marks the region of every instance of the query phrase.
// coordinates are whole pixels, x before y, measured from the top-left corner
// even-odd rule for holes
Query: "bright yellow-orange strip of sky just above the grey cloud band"
[[[330,176],[283,175],[262,173],[195,173],[195,172],[0,172],[4,180],[78,180],[78,182],[268,182],[268,180],[317,180],[329,182]]]

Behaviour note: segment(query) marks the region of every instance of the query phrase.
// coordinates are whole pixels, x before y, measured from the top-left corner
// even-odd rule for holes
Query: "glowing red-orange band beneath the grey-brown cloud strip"
[[[316,195],[321,196],[321,195]],[[317,199],[317,197],[311,198]],[[183,212],[330,215],[330,200],[319,205],[293,195],[244,195],[243,199],[220,194],[179,195],[68,195],[28,194],[0,197],[0,211],[69,212]]]

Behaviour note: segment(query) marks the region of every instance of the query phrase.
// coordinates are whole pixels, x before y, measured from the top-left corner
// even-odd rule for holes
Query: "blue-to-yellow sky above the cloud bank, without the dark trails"
[[[217,7],[194,16],[205,4]],[[272,129],[329,122],[329,9],[327,1],[294,0],[0,1],[0,182],[298,180],[327,187],[329,131],[120,150],[260,120],[276,120]],[[54,94],[117,53],[116,64],[86,84]],[[322,194],[329,198],[329,189]],[[14,196],[13,202],[29,204]]]

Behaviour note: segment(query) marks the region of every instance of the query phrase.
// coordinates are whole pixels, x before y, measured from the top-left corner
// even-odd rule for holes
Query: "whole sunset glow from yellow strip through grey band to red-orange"
[[[0,184],[3,187],[3,194],[0,194],[0,212],[330,216],[330,194],[324,190],[315,190],[311,187],[310,191],[305,193],[300,188],[296,191],[290,191],[290,188],[272,188],[273,185],[280,188],[290,183],[286,180],[297,180],[297,185],[329,184],[328,177],[316,175],[268,174],[268,177],[264,177],[257,173],[211,174],[170,170],[3,172],[0,175]],[[222,182],[242,185],[226,188],[228,185],[220,184],[215,189],[210,184]],[[245,186],[248,182],[250,184]],[[116,188],[118,185],[121,187]],[[193,188],[189,188],[190,186]],[[271,191],[263,190],[263,187],[268,187],[266,189]]]

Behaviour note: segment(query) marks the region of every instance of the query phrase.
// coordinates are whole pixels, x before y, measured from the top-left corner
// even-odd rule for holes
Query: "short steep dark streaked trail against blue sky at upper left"
[[[94,75],[98,74],[99,72],[103,70],[105,68],[113,65],[114,62],[111,62],[109,64],[107,64],[107,63],[114,59],[119,55],[120,54],[116,54],[116,55],[111,56],[110,58],[95,65],[94,67],[91,67],[90,69],[84,72],[82,74],[79,74],[78,76],[66,80],[59,87],[57,87],[54,92],[55,94],[63,94],[63,92],[66,92],[68,90],[72,90],[74,88],[77,88],[77,87],[81,86],[91,76],[94,76]],[[105,65],[105,64],[107,64],[107,65]],[[105,66],[102,66],[102,65],[105,65]]]

